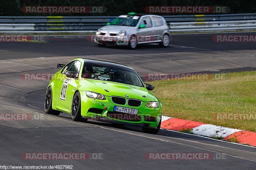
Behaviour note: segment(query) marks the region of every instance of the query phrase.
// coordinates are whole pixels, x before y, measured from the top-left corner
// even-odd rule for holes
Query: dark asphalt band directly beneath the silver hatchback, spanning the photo
[[[254,32],[222,33],[217,35],[254,35]],[[139,45],[135,51],[125,47],[106,46],[99,49],[91,42],[90,36],[47,36],[45,42],[20,43],[0,42],[1,59],[16,59],[30,57],[80,56],[80,55],[109,55],[109,54],[147,54],[147,53],[177,53],[177,52],[206,52],[226,50],[252,50],[254,42],[214,42],[216,34],[174,34],[171,36],[171,48],[159,48],[157,44]],[[159,55],[157,55],[159,56]],[[163,56],[161,56],[163,57]]]

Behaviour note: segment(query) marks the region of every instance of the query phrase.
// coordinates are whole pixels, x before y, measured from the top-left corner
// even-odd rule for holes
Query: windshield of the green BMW
[[[110,66],[107,64],[84,63],[82,78],[112,81],[133,86],[143,86],[138,74],[128,68]]]

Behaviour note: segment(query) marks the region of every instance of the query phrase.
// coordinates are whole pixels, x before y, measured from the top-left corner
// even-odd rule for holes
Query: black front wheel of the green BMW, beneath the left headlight
[[[71,119],[74,121],[81,121],[81,97],[79,91],[73,97],[71,112],[70,112]],[[83,121],[87,121],[87,118],[83,118]]]

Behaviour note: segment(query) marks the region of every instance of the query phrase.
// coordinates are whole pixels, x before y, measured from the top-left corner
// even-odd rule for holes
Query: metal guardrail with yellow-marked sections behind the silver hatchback
[[[0,33],[94,32],[117,16],[1,17]],[[163,16],[171,32],[255,30],[256,13]]]

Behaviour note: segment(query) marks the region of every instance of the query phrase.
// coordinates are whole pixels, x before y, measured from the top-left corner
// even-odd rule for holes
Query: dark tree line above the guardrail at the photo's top
[[[256,0],[0,0],[0,16],[117,16],[145,13],[146,6],[228,6],[231,13],[256,12]],[[105,13],[23,13],[23,6],[104,6]],[[162,14],[184,15],[184,14]]]

